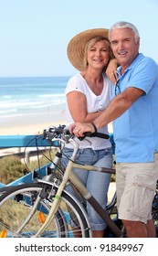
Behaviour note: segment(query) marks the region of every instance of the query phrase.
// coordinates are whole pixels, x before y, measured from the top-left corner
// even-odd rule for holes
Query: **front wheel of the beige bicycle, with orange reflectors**
[[[47,219],[57,189],[39,183],[19,185],[5,192],[0,197],[0,237],[34,237]],[[40,237],[68,238],[74,237],[75,232],[90,237],[90,225],[84,209],[63,192],[58,212]]]

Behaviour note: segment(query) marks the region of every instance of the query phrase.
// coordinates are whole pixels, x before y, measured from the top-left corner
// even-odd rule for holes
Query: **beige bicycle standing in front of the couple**
[[[86,135],[91,136],[92,133]],[[102,136],[100,133],[95,135]],[[89,201],[105,220],[108,225],[106,231],[109,232],[110,237],[125,237],[125,230],[117,217],[116,192],[105,211],[78,177],[71,172],[73,167],[109,173],[115,173],[115,169],[76,164],[75,156],[79,145],[74,141],[74,135],[68,133],[65,125],[49,127],[44,131],[43,136],[51,145],[58,147],[58,152],[51,165],[47,167],[45,178],[40,177],[35,171],[33,172],[34,183],[5,189],[5,193],[0,197],[0,237],[68,238],[79,234],[80,237],[90,238],[90,221],[83,198]],[[73,145],[74,152],[63,172],[59,162],[62,150],[67,143]],[[77,189],[79,198],[73,197],[65,189],[69,183]],[[158,191],[155,192],[155,198],[158,201]],[[158,219],[157,201],[154,204],[156,221]]]

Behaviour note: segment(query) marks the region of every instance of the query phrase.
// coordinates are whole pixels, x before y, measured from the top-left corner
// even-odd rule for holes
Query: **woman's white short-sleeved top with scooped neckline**
[[[88,112],[100,112],[104,110],[111,101],[111,80],[109,80],[105,74],[103,74],[102,76],[104,86],[99,96],[97,96],[96,94],[94,94],[93,91],[90,90],[90,87],[88,86],[86,80],[84,80],[84,78],[80,74],[77,74],[68,80],[65,93],[67,95],[70,91],[79,91],[85,94]],[[68,111],[68,104],[66,105],[66,114],[68,122],[67,125],[69,125],[70,123],[74,123],[72,116]],[[108,126],[106,125],[100,128],[98,132],[109,134]],[[79,139],[76,140],[79,143],[79,148],[92,148],[93,150],[100,150],[111,147],[111,143],[109,140],[101,139],[98,137],[87,137],[83,141],[79,141]],[[72,148],[72,145],[67,144],[66,147]]]

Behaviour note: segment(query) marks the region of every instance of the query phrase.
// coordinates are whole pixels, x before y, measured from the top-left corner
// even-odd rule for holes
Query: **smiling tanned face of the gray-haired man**
[[[113,28],[111,30],[111,49],[124,72],[139,53],[140,38],[135,39],[132,28]]]

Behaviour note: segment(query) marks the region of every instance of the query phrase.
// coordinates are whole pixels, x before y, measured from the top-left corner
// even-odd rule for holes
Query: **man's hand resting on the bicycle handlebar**
[[[77,137],[83,137],[83,133],[94,133],[95,131],[91,123],[71,123],[69,125],[69,132],[75,134]]]

